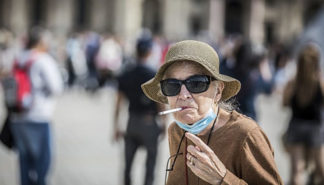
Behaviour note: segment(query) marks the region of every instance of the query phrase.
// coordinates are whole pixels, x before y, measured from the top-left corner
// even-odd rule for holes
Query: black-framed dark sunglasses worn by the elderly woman
[[[191,93],[197,94],[208,90],[210,83],[217,80],[213,76],[192,76],[185,80],[166,79],[160,82],[162,94],[164,96],[176,96],[180,93],[181,86],[184,84],[187,90]]]

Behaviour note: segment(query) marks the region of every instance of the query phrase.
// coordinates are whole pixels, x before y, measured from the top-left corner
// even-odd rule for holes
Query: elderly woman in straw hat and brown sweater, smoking
[[[224,101],[238,93],[240,83],[219,74],[211,46],[193,40],[176,43],[142,89],[152,100],[182,108],[173,113],[168,129],[167,184],[283,184],[263,130],[227,110]]]

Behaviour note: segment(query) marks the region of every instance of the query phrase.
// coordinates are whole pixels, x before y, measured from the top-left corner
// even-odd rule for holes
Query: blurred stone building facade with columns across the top
[[[32,25],[66,35],[77,29],[132,35],[141,27],[172,40],[209,31],[242,33],[254,43],[291,40],[322,0],[0,0],[0,28]]]

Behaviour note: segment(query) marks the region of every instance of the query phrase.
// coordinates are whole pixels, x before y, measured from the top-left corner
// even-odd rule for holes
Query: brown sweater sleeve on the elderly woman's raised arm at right
[[[260,127],[250,132],[243,144],[237,174],[241,178],[227,170],[222,185],[283,184],[270,142]]]

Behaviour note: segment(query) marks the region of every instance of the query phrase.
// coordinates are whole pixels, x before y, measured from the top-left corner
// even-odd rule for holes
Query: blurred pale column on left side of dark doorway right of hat
[[[210,0],[209,31],[217,39],[225,34],[225,0]]]

